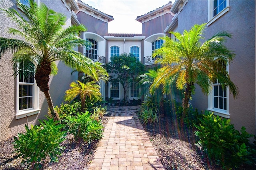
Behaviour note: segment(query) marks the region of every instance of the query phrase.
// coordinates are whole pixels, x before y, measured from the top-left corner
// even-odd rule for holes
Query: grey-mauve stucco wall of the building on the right
[[[238,86],[236,100],[230,94],[229,113],[235,128],[245,126],[251,134],[256,134],[255,118],[255,2],[229,1],[230,10],[210,24],[205,37],[216,32],[229,31],[233,38],[227,39],[226,46],[236,54],[229,65],[230,78]],[[178,15],[178,31],[190,29],[194,24],[208,22],[208,1],[188,1]],[[208,107],[208,96],[199,87],[193,96],[192,105],[199,110]]]

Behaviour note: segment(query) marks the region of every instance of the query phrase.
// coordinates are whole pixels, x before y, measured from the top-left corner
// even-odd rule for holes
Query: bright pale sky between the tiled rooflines
[[[142,24],[135,19],[170,0],[82,0],[82,2],[112,15],[114,20],[108,23],[108,33],[142,33]],[[171,0],[174,3],[175,0]]]

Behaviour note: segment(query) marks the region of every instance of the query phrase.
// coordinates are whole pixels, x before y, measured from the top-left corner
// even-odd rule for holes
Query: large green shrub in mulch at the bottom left
[[[52,162],[58,162],[58,155],[64,148],[60,143],[65,140],[66,131],[63,131],[64,125],[59,121],[50,119],[42,122],[41,125],[32,126],[29,129],[25,125],[26,132],[19,133],[18,138],[14,137],[15,152],[22,156],[24,162],[31,165],[32,169],[40,168],[42,162],[47,156],[50,156]]]

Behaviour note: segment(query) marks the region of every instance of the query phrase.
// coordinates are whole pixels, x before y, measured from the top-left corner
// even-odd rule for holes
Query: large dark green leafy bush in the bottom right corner
[[[197,143],[202,147],[209,160],[221,165],[224,169],[238,168],[242,164],[253,164],[255,150],[250,147],[249,139],[253,135],[241,133],[230,124],[230,119],[222,119],[213,114],[206,114],[200,119],[200,125],[195,132],[199,137]]]

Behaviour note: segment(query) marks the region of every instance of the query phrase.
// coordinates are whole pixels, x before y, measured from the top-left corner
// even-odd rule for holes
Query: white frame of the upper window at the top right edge
[[[214,8],[214,0],[208,0],[208,22],[207,26],[212,24],[214,21],[216,21],[218,18],[220,18],[222,15],[224,15],[226,12],[229,11],[229,0],[226,0],[226,8],[224,8],[222,11],[220,11],[216,16],[213,16],[213,8]]]

